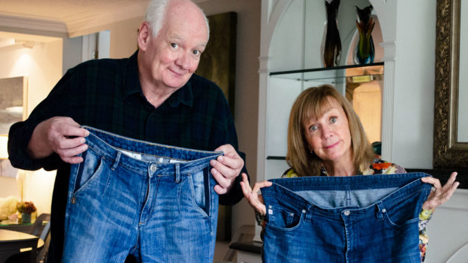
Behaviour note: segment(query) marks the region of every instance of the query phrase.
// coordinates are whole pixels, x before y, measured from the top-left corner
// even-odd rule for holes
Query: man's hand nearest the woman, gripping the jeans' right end
[[[213,167],[211,173],[217,182],[215,192],[218,195],[228,193],[233,186],[235,177],[240,174],[244,167],[244,160],[237,154],[231,144],[224,144],[215,149],[215,151],[223,151],[224,155],[210,161]]]

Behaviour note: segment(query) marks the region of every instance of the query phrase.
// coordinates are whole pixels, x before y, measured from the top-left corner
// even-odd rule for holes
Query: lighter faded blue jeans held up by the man
[[[218,196],[211,159],[191,150],[84,127],[72,165],[63,262],[211,262]]]

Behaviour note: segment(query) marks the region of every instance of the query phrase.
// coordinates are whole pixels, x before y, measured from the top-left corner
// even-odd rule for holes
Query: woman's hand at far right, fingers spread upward
[[[451,173],[450,178],[447,180],[447,184],[442,186],[439,179],[434,177],[423,177],[422,182],[432,184],[435,190],[431,191],[426,202],[422,204],[422,209],[431,210],[447,202],[451,195],[455,192],[456,188],[460,185],[459,182],[455,182],[457,173]]]

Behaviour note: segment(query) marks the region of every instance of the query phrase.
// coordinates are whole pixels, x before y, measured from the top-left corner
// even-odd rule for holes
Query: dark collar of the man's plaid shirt
[[[139,83],[137,54],[138,50],[128,59],[124,86],[122,87],[124,98],[135,93],[139,93],[143,96],[142,86]],[[187,83],[182,86],[182,88],[179,88],[168,97],[166,101],[171,107],[175,108],[181,103],[189,107],[193,106],[192,78],[193,76],[188,79]]]

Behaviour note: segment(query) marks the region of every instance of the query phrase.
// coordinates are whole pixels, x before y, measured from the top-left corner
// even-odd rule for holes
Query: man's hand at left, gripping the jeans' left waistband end
[[[83,158],[77,157],[88,149],[84,137],[89,131],[80,128],[70,117],[52,117],[42,121],[32,132],[28,153],[33,159],[42,159],[57,153],[64,162],[78,164]]]

